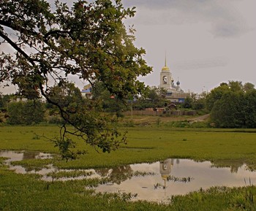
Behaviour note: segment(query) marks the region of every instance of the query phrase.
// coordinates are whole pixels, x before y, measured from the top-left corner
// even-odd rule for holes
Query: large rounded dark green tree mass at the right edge
[[[256,127],[256,90],[241,82],[230,81],[214,88],[206,97],[211,121],[219,128]]]

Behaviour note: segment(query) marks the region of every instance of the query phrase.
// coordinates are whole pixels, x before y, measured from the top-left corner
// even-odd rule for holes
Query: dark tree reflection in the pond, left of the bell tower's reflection
[[[120,184],[125,180],[132,178],[132,168],[131,166],[118,166],[113,169],[95,169],[95,172],[101,177],[107,177],[112,183]]]

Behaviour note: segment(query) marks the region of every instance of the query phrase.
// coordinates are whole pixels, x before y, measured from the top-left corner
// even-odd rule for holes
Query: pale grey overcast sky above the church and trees
[[[135,18],[126,24],[134,25],[135,45],[146,49],[145,59],[153,67],[140,78],[146,85],[159,85],[165,52],[175,83],[179,80],[184,91],[210,91],[228,80],[256,85],[255,0],[123,3],[136,7]],[[77,82],[80,88],[84,84]]]

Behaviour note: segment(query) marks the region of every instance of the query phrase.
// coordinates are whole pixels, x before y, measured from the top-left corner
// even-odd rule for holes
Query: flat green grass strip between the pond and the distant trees
[[[88,153],[75,161],[56,161],[64,168],[119,166],[165,160],[166,158],[192,158],[225,164],[248,164],[256,168],[256,130],[212,128],[122,128],[129,130],[128,145],[112,153],[97,153],[94,148],[78,142],[78,148]],[[0,130],[2,150],[30,150],[58,153],[53,142],[40,136],[53,137],[57,126],[10,126]],[[227,164],[230,166],[230,164]]]

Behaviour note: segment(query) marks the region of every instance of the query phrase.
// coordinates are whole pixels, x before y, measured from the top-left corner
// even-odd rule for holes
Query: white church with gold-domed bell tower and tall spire
[[[159,88],[165,88],[166,96],[165,98],[170,100],[173,103],[183,103],[189,93],[184,93],[184,91],[180,87],[181,83],[179,81],[174,83],[172,73],[170,72],[169,67],[166,65],[165,58],[165,66],[162,68],[160,72],[160,85]]]

